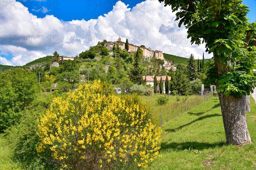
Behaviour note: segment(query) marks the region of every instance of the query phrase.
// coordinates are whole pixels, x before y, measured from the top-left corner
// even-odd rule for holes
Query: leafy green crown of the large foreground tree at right
[[[211,82],[215,81],[218,92],[234,97],[250,94],[256,86],[252,73],[255,54],[247,48],[255,48],[252,45],[255,44],[254,37],[250,37],[255,27],[247,22],[249,10],[241,4],[242,0],[173,0],[165,3],[172,6],[173,12],[179,10],[176,20],[180,20],[179,26],[184,24],[188,28],[192,44],[205,42],[207,51],[213,52],[215,68],[210,69],[208,75]],[[245,66],[244,62],[250,64]]]

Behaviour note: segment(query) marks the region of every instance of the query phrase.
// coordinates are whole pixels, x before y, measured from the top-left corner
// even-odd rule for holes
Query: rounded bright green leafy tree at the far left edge
[[[17,68],[0,72],[0,132],[15,125],[23,111],[37,96],[39,82],[34,73]]]

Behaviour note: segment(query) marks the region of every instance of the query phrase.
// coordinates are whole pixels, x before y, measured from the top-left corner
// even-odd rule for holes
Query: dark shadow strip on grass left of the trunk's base
[[[176,140],[177,141],[177,140]],[[226,144],[226,141],[220,141],[220,142],[214,142],[214,143],[208,143],[208,142],[192,142],[190,139],[188,139],[188,142],[186,141],[180,141],[180,142],[170,142],[170,143],[162,143],[161,144],[161,150],[189,150],[189,148],[192,150],[204,150],[209,148],[215,148],[215,147],[222,147]]]

